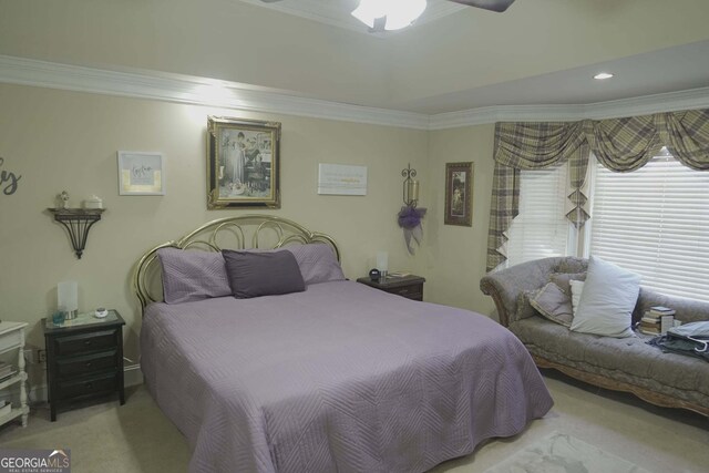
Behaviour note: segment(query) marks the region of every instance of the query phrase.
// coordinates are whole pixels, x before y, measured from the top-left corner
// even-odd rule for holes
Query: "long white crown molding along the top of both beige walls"
[[[0,55],[0,83],[414,130],[495,122],[566,122],[709,109],[709,88],[576,105],[500,105],[427,115],[299,97],[236,82],[157,71],[122,72]]]

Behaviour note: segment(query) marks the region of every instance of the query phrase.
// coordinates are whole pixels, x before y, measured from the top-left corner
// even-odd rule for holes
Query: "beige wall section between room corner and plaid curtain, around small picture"
[[[485,275],[487,224],[493,175],[494,125],[429,133],[428,181],[431,182],[427,250],[422,273],[429,300],[492,315],[492,299],[480,291]],[[444,225],[445,163],[472,162],[473,225]]]

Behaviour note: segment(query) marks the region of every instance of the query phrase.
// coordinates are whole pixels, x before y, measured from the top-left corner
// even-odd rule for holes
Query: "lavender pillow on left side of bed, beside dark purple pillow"
[[[161,248],[163,298],[166,304],[189,302],[232,295],[220,253]]]

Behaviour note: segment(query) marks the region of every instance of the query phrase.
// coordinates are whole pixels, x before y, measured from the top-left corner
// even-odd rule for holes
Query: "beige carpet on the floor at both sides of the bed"
[[[490,441],[433,472],[484,472],[504,465],[554,432],[573,435],[648,472],[709,470],[707,418],[654,408],[634,397],[598,390],[553,372],[545,372],[545,378],[556,402],[546,418],[532,422],[521,435]],[[60,413],[53,423],[49,422],[49,409],[37,408],[27,429],[17,423],[0,428],[0,448],[68,446],[73,473],[186,471],[189,448],[182,434],[143,387],[126,394],[123,407],[117,401],[88,405]]]

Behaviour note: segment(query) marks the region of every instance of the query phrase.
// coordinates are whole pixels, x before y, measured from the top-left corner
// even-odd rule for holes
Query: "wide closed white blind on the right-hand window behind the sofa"
[[[709,172],[667,152],[631,173],[597,164],[590,253],[662,294],[709,301]]]

